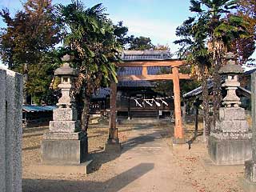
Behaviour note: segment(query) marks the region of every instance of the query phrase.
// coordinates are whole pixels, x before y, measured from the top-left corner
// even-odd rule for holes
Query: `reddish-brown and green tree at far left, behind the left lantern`
[[[51,1],[28,0],[14,18],[7,9],[0,11],[6,28],[1,29],[0,56],[11,70],[24,74],[24,91],[40,104],[49,93],[53,77],[54,46],[61,41],[60,25]],[[48,102],[48,101],[44,101]]]

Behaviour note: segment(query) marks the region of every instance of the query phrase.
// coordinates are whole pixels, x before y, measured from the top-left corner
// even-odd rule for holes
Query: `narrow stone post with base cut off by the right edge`
[[[251,184],[251,191],[256,191],[256,73],[251,76],[251,117],[252,125],[252,158],[245,162],[245,178]]]

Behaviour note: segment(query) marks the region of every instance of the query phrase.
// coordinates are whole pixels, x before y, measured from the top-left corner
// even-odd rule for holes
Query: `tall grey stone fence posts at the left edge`
[[[22,191],[22,75],[0,68],[0,191]]]

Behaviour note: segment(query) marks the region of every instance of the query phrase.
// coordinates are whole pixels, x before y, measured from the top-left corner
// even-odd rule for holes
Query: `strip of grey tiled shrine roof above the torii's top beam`
[[[170,52],[168,50],[124,50],[121,59],[122,61],[168,60]]]

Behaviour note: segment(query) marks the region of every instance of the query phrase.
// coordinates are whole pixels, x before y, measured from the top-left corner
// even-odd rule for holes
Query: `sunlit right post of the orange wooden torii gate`
[[[179,87],[178,67],[172,68],[174,74],[174,115],[175,115],[175,127],[174,127],[174,143],[185,143],[184,130],[182,127],[182,110],[181,110],[181,96]]]

